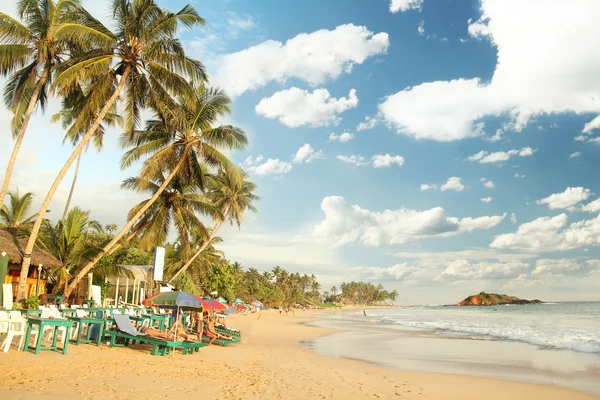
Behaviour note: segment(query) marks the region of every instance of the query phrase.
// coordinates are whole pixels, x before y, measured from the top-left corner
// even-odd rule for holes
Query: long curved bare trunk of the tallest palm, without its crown
[[[31,234],[29,236],[29,240],[27,241],[27,246],[25,247],[25,252],[24,252],[25,254],[23,254],[23,262],[21,264],[21,274],[19,275],[19,286],[17,289],[17,301],[25,300],[25,297],[26,297],[25,289],[27,287],[27,273],[29,272],[29,265],[31,264],[31,252],[33,251],[33,247],[35,245],[35,241],[37,240],[37,236],[40,231],[40,227],[42,226],[42,221],[44,220],[46,211],[48,211],[48,207],[50,206],[52,197],[54,197],[54,194],[56,193],[56,190],[58,189],[58,185],[60,185],[60,182],[63,180],[63,178],[67,174],[67,171],[69,170],[69,168],[71,168],[71,165],[73,164],[73,161],[75,161],[75,158],[77,156],[79,156],[79,154],[81,154],[85,145],[90,141],[90,138],[92,137],[94,132],[96,132],[96,130],[102,123],[102,120],[106,116],[106,113],[108,113],[108,110],[110,110],[110,108],[115,103],[115,101],[117,101],[119,94],[121,94],[121,91],[125,87],[125,82],[127,81],[127,77],[129,76],[130,73],[131,73],[131,70],[129,68],[125,69],[125,71],[123,72],[123,75],[121,76],[121,80],[119,81],[119,84],[117,85],[115,92],[110,97],[110,99],[108,99],[108,102],[104,105],[102,110],[100,110],[100,112],[98,113],[98,117],[96,118],[96,121],[94,121],[94,124],[85,133],[85,135],[83,136],[83,138],[81,139],[81,141],[79,142],[77,147],[75,147],[75,150],[73,150],[73,153],[71,153],[71,156],[69,157],[69,159],[67,160],[65,165],[62,167],[62,169],[56,176],[56,179],[54,179],[54,182],[52,183],[52,186],[50,187],[48,194],[46,194],[46,198],[44,199],[44,202],[42,203],[42,207],[40,208],[40,211],[38,212],[38,216],[35,219],[35,222],[33,223],[33,228],[31,229]]]

